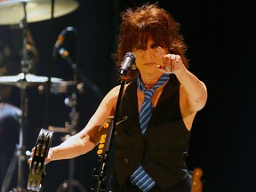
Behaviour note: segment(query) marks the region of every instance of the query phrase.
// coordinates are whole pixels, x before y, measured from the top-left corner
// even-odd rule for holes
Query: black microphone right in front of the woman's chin
[[[126,52],[124,55],[124,59],[121,63],[121,68],[119,69],[119,75],[120,76],[126,76],[130,70],[132,69],[132,66],[135,64],[135,55],[133,52]]]

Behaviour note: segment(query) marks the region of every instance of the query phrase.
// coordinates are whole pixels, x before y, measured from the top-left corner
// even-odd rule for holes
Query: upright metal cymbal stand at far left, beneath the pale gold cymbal
[[[27,24],[27,11],[26,11],[27,2],[22,1],[24,9],[24,18],[20,21],[20,28],[22,28],[23,33],[23,52],[21,60],[21,72],[24,74],[23,79],[20,81],[20,109],[22,111],[21,117],[19,119],[20,123],[20,136],[19,144],[16,145],[14,155],[12,157],[11,164],[9,164],[8,170],[4,177],[3,186],[1,188],[2,192],[7,191],[12,179],[12,174],[15,170],[15,164],[18,166],[18,179],[17,179],[17,188],[13,188],[14,192],[27,191],[25,189],[25,177],[24,177],[24,165],[27,160],[26,158],[26,140],[27,140],[27,128],[28,128],[28,96],[27,96],[27,80],[26,75],[29,72],[29,67],[31,60],[28,60],[28,24]]]

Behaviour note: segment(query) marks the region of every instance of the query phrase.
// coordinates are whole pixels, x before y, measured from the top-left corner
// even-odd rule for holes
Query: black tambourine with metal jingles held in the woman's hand
[[[44,159],[52,144],[53,132],[41,129],[36,140],[35,154],[29,167],[28,190],[40,191],[43,187],[45,172]]]

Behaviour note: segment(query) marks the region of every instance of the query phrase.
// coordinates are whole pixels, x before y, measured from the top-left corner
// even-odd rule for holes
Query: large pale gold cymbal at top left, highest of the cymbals
[[[0,0],[0,25],[19,24],[24,18],[24,3],[28,23],[51,19],[51,0]],[[78,5],[76,0],[55,0],[53,17],[73,12]]]

